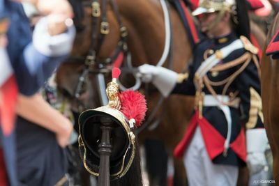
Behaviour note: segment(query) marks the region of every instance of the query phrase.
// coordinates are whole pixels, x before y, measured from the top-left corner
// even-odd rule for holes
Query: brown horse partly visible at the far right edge
[[[279,13],[273,20],[266,38],[266,46],[279,29]],[[262,106],[264,111],[264,127],[273,154],[273,177],[279,183],[279,60],[266,56],[266,47],[262,53]]]

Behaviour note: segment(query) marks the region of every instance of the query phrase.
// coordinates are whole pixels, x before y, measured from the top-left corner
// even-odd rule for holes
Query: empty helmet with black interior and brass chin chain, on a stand
[[[121,111],[110,106],[84,111],[79,118],[79,150],[84,167],[93,176],[98,176],[100,155],[98,153],[102,122],[111,123],[112,154],[110,155],[110,178],[121,178],[126,174],[135,156],[135,135],[128,119]]]

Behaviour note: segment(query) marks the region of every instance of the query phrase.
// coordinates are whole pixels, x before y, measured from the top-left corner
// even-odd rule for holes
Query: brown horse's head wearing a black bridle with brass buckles
[[[73,50],[57,70],[59,88],[70,98],[75,111],[99,107],[98,75],[109,77],[114,60],[114,49],[119,45],[120,30],[110,6],[102,18],[93,13],[100,7],[93,1],[70,1],[73,4],[77,28]],[[98,1],[94,1],[97,3]],[[97,10],[96,10],[97,8]],[[102,21],[101,19],[105,19]],[[102,24],[99,22],[108,24]],[[107,30],[106,30],[107,29]],[[107,32],[107,33],[106,33]],[[104,85],[103,85],[104,86]]]

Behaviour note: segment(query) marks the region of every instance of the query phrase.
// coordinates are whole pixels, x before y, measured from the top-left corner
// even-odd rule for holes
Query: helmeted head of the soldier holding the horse
[[[199,17],[202,32],[218,37],[232,30],[249,38],[249,22],[246,3],[243,0],[200,0],[193,11]]]

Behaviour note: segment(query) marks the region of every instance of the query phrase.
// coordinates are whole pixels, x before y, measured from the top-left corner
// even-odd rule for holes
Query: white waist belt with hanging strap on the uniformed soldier
[[[229,106],[223,104],[222,102],[229,102],[229,97],[227,95],[204,95],[204,106],[205,107],[219,107],[225,114],[227,120],[227,137],[224,144],[224,155],[227,154],[227,149],[229,148],[229,140],[232,136],[232,116]],[[238,107],[239,105],[234,105],[233,107]]]

